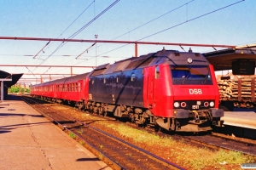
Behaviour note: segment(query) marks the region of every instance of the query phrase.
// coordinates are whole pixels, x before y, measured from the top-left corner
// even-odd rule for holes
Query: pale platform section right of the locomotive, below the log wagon
[[[256,113],[254,111],[224,111],[224,125],[256,129]]]

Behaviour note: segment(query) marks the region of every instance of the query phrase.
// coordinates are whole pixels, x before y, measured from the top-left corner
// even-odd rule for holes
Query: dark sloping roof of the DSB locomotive
[[[189,58],[193,59],[192,64],[188,64],[187,59]],[[163,63],[168,65],[209,65],[209,62],[202,54],[163,49],[156,53],[123,59],[115,62],[113,65],[99,65],[90,76],[134,70],[137,68],[160,65]]]

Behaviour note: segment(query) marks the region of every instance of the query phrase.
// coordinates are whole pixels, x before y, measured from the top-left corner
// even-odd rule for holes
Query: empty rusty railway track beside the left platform
[[[22,96],[22,99],[49,120],[55,122],[73,139],[77,139],[80,144],[83,144],[113,169],[183,169],[171,161],[166,161],[147,150],[92,127],[88,122],[81,122],[73,117],[65,116],[61,111],[41,105],[43,101],[38,103],[35,99],[25,96]]]

